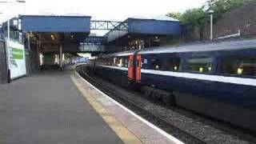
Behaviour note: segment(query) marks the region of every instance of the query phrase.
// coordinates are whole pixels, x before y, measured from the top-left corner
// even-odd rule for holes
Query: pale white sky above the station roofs
[[[9,1],[12,3],[1,3]],[[18,14],[88,15],[93,20],[123,21],[134,16],[158,17],[202,6],[206,0],[0,0],[0,22]],[[2,14],[1,14],[2,13]]]

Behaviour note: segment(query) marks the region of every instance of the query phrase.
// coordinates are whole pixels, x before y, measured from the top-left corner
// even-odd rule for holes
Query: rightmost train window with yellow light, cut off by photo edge
[[[256,58],[228,58],[222,62],[224,74],[256,76]]]

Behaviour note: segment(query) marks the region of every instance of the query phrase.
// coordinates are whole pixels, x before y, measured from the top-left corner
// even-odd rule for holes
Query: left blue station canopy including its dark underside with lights
[[[88,16],[45,16],[21,15],[21,30],[37,38],[42,49],[48,52],[58,50],[72,51],[78,49],[90,34],[90,18]]]

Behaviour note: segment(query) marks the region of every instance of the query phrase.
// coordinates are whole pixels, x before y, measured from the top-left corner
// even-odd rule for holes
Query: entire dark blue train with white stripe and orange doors
[[[256,39],[105,54],[90,70],[166,104],[256,131]]]

